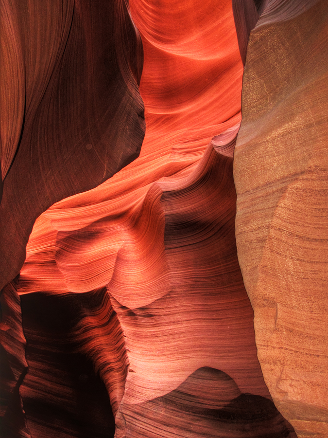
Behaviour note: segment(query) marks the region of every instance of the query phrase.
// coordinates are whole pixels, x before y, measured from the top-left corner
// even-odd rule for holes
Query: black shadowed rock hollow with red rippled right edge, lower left
[[[31,293],[21,307],[29,371],[20,394],[31,437],[113,436],[110,399],[114,410],[126,359],[107,293]]]

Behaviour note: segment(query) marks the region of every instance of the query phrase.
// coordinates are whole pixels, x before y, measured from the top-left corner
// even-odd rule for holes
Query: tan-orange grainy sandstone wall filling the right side
[[[236,236],[258,357],[298,436],[328,436],[328,7],[267,2],[235,149]]]

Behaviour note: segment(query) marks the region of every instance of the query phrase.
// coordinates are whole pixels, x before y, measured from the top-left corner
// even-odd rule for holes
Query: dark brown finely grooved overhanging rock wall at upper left
[[[123,0],[3,0],[0,10],[1,290],[35,219],[136,158],[144,119],[141,41]]]

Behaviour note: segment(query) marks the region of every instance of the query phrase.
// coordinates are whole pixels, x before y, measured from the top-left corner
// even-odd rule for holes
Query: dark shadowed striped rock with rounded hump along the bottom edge
[[[162,397],[132,406],[123,404],[122,409],[129,438],[182,434],[186,438],[282,438],[290,436],[291,429],[273,402],[241,394],[231,377],[210,367],[199,368]]]

